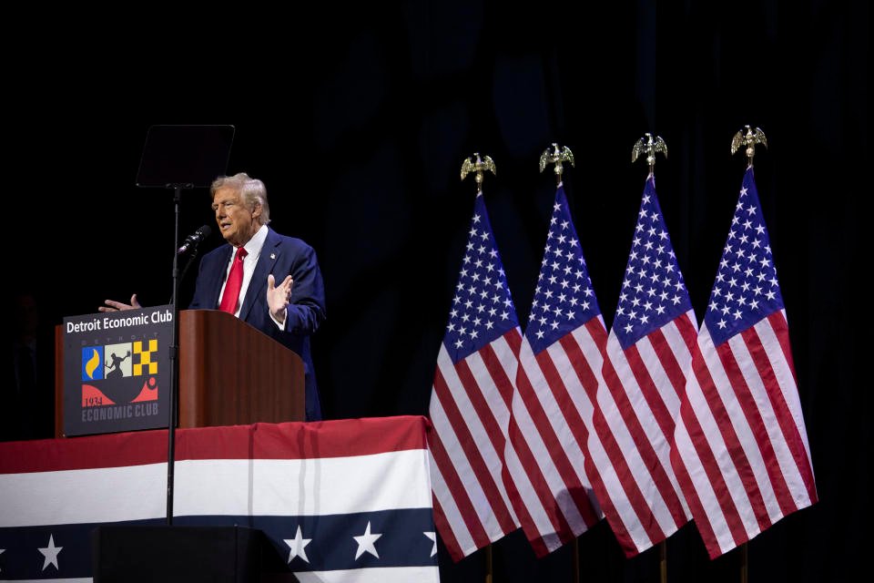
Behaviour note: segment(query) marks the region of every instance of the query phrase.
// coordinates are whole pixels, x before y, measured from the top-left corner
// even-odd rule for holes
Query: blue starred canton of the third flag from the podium
[[[650,174],[637,213],[613,332],[625,350],[691,309],[686,283],[655,196],[655,177]]]

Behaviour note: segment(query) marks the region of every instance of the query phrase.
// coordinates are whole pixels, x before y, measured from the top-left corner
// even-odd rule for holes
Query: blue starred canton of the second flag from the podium
[[[525,338],[540,353],[600,313],[564,187],[559,186]]]

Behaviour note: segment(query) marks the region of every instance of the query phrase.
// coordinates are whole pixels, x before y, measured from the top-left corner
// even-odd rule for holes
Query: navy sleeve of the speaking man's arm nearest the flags
[[[316,332],[325,320],[325,288],[316,251],[304,246],[291,266],[290,275],[294,282],[285,331],[298,335]],[[281,278],[277,278],[279,281]]]

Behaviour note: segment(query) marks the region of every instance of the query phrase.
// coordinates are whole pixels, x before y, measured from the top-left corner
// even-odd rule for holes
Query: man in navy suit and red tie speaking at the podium
[[[194,298],[188,306],[226,309],[300,355],[305,370],[307,421],[321,419],[319,393],[310,355],[310,334],[325,319],[325,291],[316,253],[304,241],[268,227],[267,189],[244,172],[219,177],[209,189],[221,236],[230,244],[200,260]],[[242,248],[239,301],[224,298],[231,266]],[[279,281],[280,280],[280,281]],[[238,280],[239,281],[239,280]],[[277,282],[279,281],[279,283]],[[235,291],[234,291],[235,292]],[[228,295],[235,296],[236,293]],[[137,295],[125,304],[107,300],[101,312],[139,308]]]

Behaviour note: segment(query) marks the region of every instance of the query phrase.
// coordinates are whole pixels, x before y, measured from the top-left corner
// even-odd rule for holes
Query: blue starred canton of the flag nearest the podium
[[[518,325],[489,214],[479,193],[443,344],[457,363]]]

